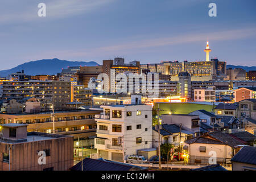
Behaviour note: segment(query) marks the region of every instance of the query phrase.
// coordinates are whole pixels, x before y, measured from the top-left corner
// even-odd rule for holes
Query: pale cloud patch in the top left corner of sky
[[[0,7],[0,23],[31,22],[38,20],[38,4],[46,4],[46,19],[55,20],[90,13],[116,0],[44,0],[5,1]],[[13,6],[15,5],[15,6]],[[9,11],[10,10],[10,11]]]

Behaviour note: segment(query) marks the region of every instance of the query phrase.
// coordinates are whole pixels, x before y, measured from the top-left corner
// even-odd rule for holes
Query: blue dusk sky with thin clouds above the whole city
[[[1,0],[0,70],[53,58],[200,61],[207,40],[210,58],[256,66],[255,9],[255,0]]]

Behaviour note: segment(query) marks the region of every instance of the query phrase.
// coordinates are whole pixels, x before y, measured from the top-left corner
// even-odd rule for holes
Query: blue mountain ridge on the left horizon
[[[65,61],[55,59],[43,59],[38,61],[30,61],[28,63],[20,64],[15,68],[0,71],[0,77],[7,77],[11,73],[21,72],[22,69],[26,75],[55,75],[61,70],[68,67],[77,66],[96,66],[99,65],[94,61]]]

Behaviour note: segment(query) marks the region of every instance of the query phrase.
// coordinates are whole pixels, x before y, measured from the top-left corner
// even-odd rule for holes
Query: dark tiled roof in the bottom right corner
[[[236,155],[233,156],[231,162],[239,162],[256,165],[256,147],[244,146]]]

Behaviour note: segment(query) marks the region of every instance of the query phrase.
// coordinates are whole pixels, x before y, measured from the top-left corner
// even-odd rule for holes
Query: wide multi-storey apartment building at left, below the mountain
[[[2,90],[5,99],[34,97],[40,101],[42,110],[51,109],[52,104],[56,110],[63,110],[65,103],[71,102],[70,81],[5,81]]]

